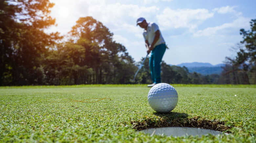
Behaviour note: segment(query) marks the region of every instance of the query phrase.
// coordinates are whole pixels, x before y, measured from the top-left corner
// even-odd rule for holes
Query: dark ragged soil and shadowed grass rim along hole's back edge
[[[170,113],[153,113],[155,116],[146,116],[140,121],[131,121],[133,128],[137,131],[150,129],[150,128],[161,128],[161,127],[192,127],[209,129],[224,132],[230,129],[229,126],[225,125],[225,122],[218,119],[204,119],[200,117],[188,117],[186,113],[170,112]]]

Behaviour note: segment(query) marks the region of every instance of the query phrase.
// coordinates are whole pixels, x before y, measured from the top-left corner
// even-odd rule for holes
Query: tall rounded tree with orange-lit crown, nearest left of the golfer
[[[125,84],[132,76],[133,59],[126,48],[113,41],[113,33],[92,17],[81,17],[70,31],[70,42],[85,50],[83,61],[93,69],[92,84]]]

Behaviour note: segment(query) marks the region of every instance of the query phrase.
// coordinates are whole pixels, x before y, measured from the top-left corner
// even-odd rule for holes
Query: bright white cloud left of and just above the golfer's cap
[[[159,11],[156,6],[140,7],[138,5],[125,5],[120,3],[109,5],[92,5],[89,7],[89,15],[106,25],[111,32],[123,31],[142,37],[142,30],[136,26],[139,17],[151,17]]]

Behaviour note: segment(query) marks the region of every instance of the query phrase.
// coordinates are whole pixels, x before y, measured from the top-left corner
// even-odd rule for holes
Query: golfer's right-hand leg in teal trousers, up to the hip
[[[155,58],[154,58],[154,80],[156,83],[161,83],[161,61],[163,54],[166,50],[165,44],[161,44],[155,47]]]

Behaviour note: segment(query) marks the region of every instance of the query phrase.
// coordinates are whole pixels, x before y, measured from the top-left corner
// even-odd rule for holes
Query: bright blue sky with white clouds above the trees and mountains
[[[92,16],[114,34],[136,62],[146,56],[139,17],[158,24],[169,47],[167,64],[203,62],[221,64],[234,57],[231,50],[243,40],[240,29],[250,30],[256,19],[256,0],[50,0],[57,26],[47,31],[67,35],[80,17]]]

